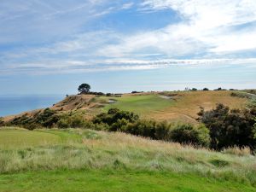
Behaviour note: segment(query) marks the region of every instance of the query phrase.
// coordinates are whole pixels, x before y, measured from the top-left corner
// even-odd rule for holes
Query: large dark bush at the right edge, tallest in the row
[[[220,150],[236,146],[251,149],[256,147],[255,127],[253,128],[256,108],[230,110],[223,104],[218,104],[207,112],[201,108],[199,115],[201,122],[210,131],[211,148]]]

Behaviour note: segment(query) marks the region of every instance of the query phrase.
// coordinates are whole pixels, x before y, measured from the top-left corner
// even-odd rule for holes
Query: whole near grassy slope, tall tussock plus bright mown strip
[[[27,133],[62,139],[0,149],[0,191],[256,191],[256,159],[249,154],[103,131]]]

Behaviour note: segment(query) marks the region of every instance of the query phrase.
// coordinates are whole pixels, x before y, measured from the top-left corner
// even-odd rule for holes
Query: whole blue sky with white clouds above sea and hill
[[[0,95],[256,88],[255,0],[1,0]]]

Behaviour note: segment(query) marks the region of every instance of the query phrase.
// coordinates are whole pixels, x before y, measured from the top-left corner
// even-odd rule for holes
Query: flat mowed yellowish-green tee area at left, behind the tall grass
[[[0,130],[0,148],[24,148],[60,142],[61,137],[40,131]]]

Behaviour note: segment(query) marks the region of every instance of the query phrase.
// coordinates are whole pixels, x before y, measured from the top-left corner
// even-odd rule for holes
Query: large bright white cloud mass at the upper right
[[[119,44],[107,45],[99,54],[132,56],[149,52],[175,58],[256,49],[254,0],[145,0],[142,9],[172,9],[182,21],[121,37]]]

